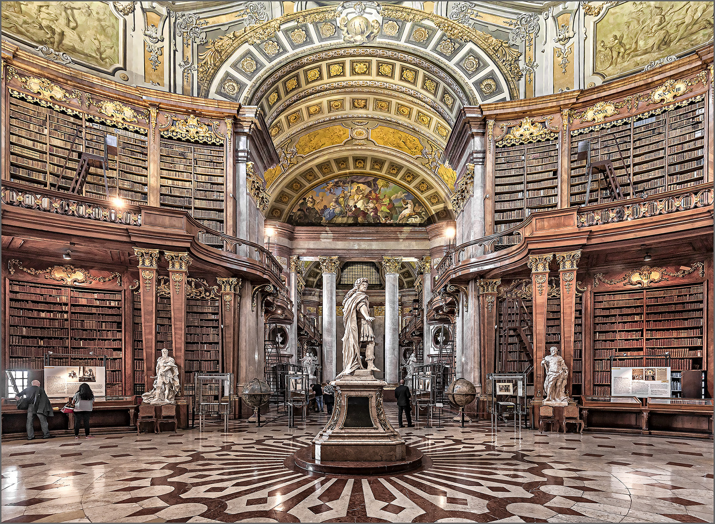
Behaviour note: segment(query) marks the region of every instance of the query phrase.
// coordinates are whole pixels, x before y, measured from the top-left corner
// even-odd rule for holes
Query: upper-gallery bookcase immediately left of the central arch
[[[211,229],[225,231],[224,148],[162,138],[159,203],[182,209]],[[199,235],[200,242],[221,248],[220,237]]]

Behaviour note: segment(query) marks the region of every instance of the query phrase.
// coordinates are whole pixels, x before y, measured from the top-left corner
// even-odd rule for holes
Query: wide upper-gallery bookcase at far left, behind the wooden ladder
[[[71,147],[75,133],[77,140]],[[9,98],[10,179],[68,190],[79,155],[88,152],[104,156],[108,134],[117,137],[119,152],[108,157],[109,197],[147,204],[149,153],[145,134],[93,122],[85,114],[81,117],[66,114],[12,97]],[[89,167],[83,194],[107,198],[101,167]]]

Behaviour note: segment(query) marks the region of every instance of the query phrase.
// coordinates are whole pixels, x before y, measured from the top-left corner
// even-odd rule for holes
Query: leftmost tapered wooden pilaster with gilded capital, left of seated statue
[[[144,391],[152,389],[157,347],[157,261],[159,249],[134,247],[139,258],[139,296],[142,300],[142,345],[144,345]]]

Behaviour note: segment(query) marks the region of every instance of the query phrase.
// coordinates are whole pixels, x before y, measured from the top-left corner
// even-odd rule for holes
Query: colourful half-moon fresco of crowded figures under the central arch
[[[324,182],[303,195],[289,222],[295,225],[420,225],[428,210],[405,188],[370,176]]]

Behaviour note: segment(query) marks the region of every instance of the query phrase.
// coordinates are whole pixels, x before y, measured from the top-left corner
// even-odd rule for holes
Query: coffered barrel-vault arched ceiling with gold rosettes
[[[321,184],[369,175],[404,188],[430,221],[453,217],[455,172],[443,153],[455,120],[465,106],[518,96],[518,51],[395,5],[382,7],[377,38],[358,46],[344,41],[335,15],[329,6],[282,16],[222,36],[202,55],[204,96],[263,110],[280,157],[263,174],[267,216],[290,222]],[[401,210],[397,199],[381,222],[398,222]]]

